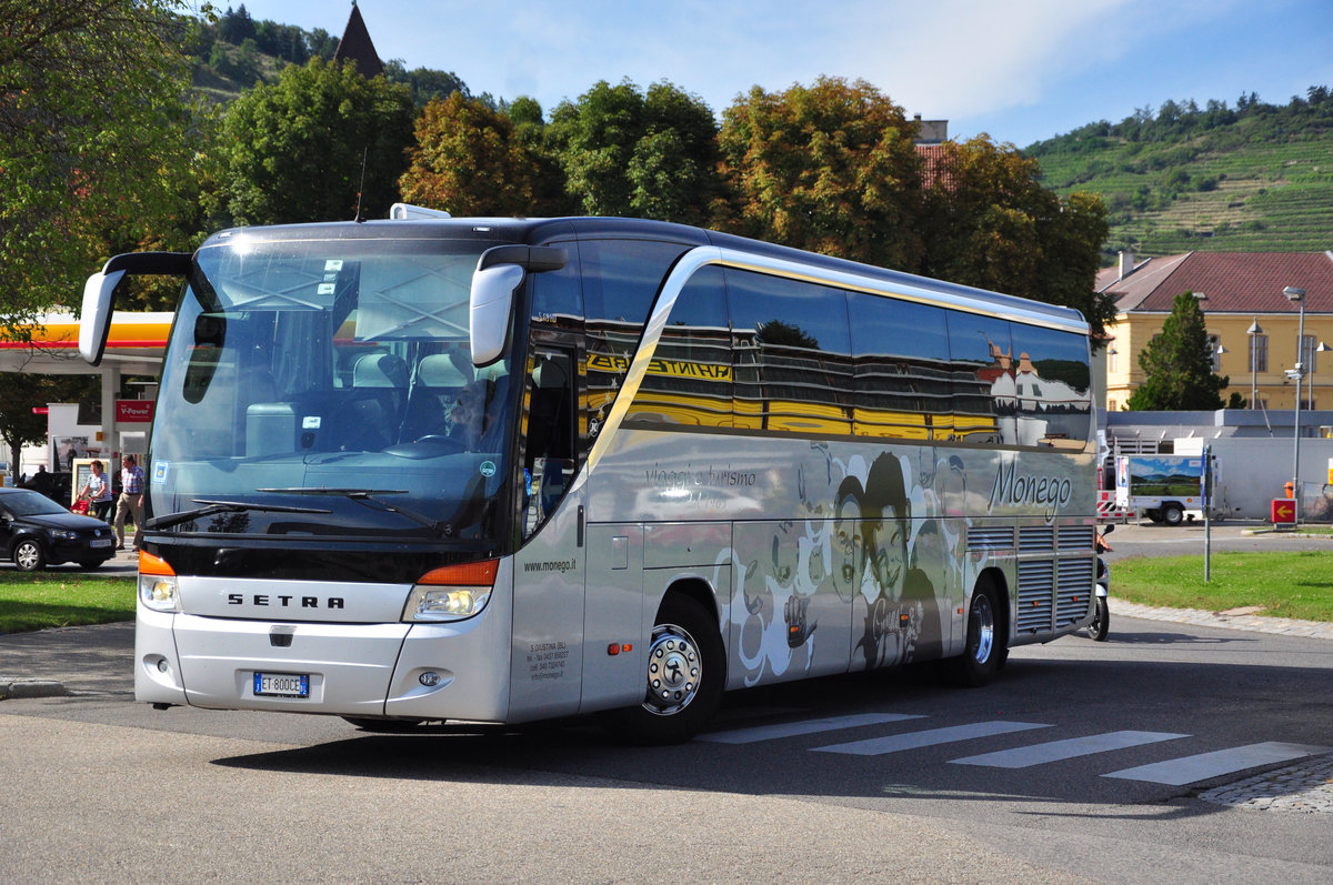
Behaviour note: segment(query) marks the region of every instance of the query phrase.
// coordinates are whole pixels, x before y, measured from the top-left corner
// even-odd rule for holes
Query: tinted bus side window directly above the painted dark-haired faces
[[[861,436],[948,440],[953,433],[944,309],[848,295]]]

